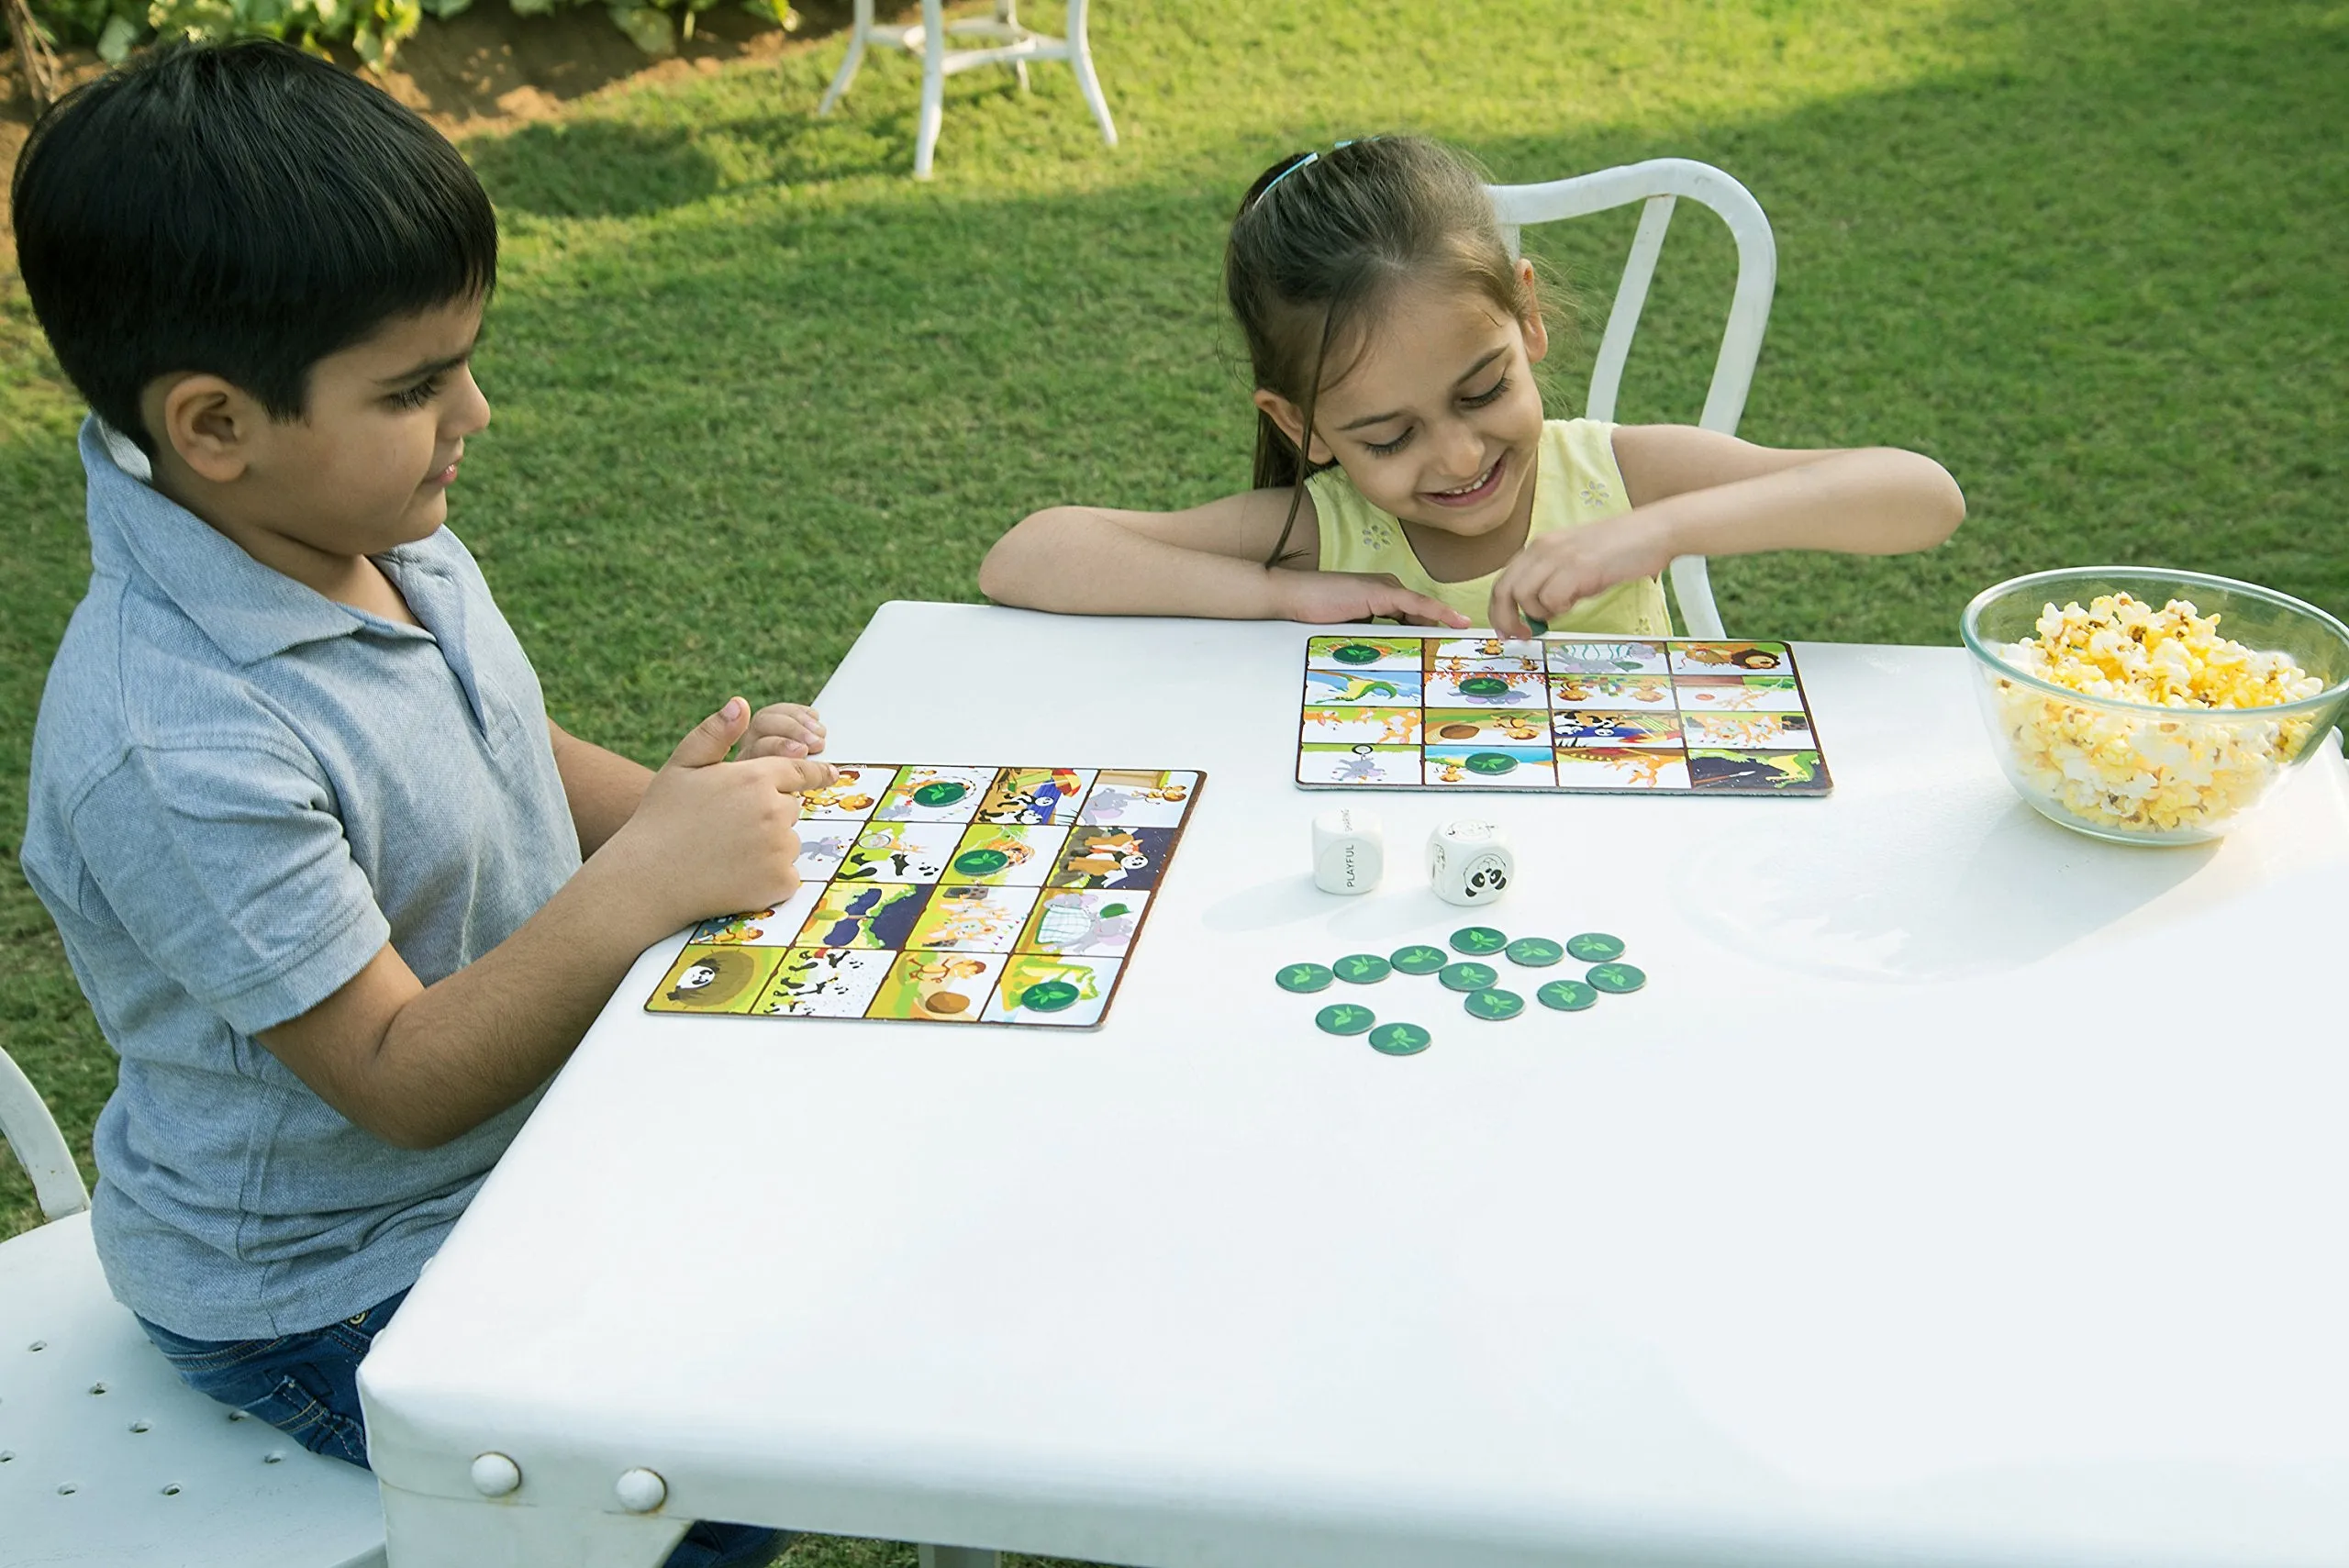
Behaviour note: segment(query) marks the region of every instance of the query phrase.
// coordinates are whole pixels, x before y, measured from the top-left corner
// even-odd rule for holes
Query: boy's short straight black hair
[[[458,150],[268,40],[160,49],[66,94],[9,207],[56,361],[148,455],[157,376],[221,376],[298,420],[319,359],[498,282],[498,221]]]

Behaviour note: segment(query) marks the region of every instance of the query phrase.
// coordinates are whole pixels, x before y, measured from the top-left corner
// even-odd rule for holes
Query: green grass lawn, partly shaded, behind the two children
[[[1917,446],[1964,484],[1971,519],[1931,556],[1717,566],[1731,629],[1952,643],[1978,587],[2088,561],[2349,613],[2349,5],[1104,0],[1123,146],[1066,70],[1031,96],[970,73],[930,185],[904,178],[911,61],[869,61],[813,117],[839,49],[467,146],[507,251],[479,361],[498,423],[453,523],[554,716],[646,761],[731,690],[810,695],[883,599],[975,599],[980,554],[1038,505],[1240,488],[1231,207],[1283,150],[1384,129],[1513,181],[1734,171],[1781,246],[1743,434]],[[1553,411],[1630,223],[1536,242],[1593,322]],[[1623,418],[1696,418],[1727,279],[1727,237],[1684,209]],[[78,413],[0,284],[12,833],[87,575]],[[0,1038],[87,1150],[113,1068],[14,873]],[[31,1218],[7,1171],[0,1228]]]

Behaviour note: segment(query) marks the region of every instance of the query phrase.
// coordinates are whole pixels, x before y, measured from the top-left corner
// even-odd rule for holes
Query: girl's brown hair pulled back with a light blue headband
[[[1369,315],[1405,279],[1482,293],[1517,319],[1536,310],[1482,169],[1463,153],[1423,136],[1346,141],[1283,157],[1240,200],[1224,246],[1224,298],[1257,385],[1297,404],[1308,441],[1320,390],[1346,376]],[[1344,359],[1334,371],[1332,350]],[[1257,411],[1254,486],[1294,488],[1266,566],[1287,549],[1311,472],[1273,415]]]

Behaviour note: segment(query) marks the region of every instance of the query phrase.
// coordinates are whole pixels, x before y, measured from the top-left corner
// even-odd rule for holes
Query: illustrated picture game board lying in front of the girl
[[[1308,789],[1823,796],[1785,643],[1546,636],[1306,641]]]

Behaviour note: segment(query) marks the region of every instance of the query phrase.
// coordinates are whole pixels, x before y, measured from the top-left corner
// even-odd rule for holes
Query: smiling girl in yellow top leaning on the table
[[[1257,488],[1189,512],[1048,507],[987,554],[1001,603],[1097,615],[1670,634],[1682,554],[1929,549],[1966,498],[1917,453],[1543,420],[1534,268],[1480,171],[1416,136],[1266,169],[1224,291],[1257,378]]]

